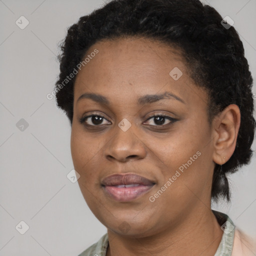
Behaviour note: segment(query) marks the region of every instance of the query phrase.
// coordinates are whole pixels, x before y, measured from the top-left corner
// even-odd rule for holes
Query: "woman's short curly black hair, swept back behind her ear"
[[[240,109],[235,150],[222,165],[222,171],[215,163],[212,177],[211,198],[217,201],[222,197],[229,201],[226,174],[249,163],[255,119],[252,77],[243,44],[235,28],[225,28],[221,20],[213,7],[199,0],[111,0],[68,28],[58,55],[57,106],[65,111],[72,125],[76,76],[69,78],[65,86],[63,80],[82,61],[88,48],[99,40],[140,36],[178,48],[189,76],[208,92],[209,123],[229,104],[236,104]]]

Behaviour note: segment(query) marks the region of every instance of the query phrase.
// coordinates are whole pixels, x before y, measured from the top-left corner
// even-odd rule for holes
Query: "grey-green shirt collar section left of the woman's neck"
[[[86,250],[81,252],[78,256],[105,256],[106,249],[108,246],[108,235],[107,233],[101,236],[101,238],[93,243]]]

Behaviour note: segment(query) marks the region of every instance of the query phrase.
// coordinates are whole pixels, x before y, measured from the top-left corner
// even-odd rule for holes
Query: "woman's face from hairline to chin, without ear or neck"
[[[138,38],[97,42],[87,55],[74,85],[71,154],[94,215],[113,232],[143,237],[208,210],[207,94],[182,58]]]

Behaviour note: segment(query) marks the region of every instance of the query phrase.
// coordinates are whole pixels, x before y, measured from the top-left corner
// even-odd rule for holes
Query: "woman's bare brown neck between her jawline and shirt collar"
[[[147,237],[127,237],[108,229],[106,256],[214,256],[223,231],[212,211],[203,207],[204,211],[189,214],[177,227]]]

